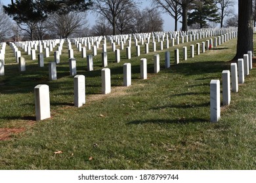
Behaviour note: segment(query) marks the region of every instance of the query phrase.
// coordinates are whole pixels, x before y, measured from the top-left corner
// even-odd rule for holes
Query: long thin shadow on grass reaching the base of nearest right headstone
[[[139,125],[139,124],[189,124],[189,123],[205,123],[209,122],[209,119],[204,118],[180,118],[176,120],[135,120],[128,122],[127,125]]]

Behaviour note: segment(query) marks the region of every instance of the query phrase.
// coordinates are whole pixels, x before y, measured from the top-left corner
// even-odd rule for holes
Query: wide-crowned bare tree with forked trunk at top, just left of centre
[[[93,10],[105,17],[112,25],[113,35],[116,35],[116,23],[125,9],[134,7],[134,0],[98,0],[93,3]]]

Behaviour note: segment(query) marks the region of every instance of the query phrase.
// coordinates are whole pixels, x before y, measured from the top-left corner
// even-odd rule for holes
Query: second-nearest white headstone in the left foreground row
[[[74,105],[81,107],[85,104],[85,76],[74,76]]]

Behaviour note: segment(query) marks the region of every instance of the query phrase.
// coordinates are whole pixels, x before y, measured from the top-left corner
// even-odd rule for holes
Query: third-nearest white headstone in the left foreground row
[[[101,70],[101,80],[102,80],[102,94],[111,93],[110,69],[104,68]]]

